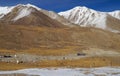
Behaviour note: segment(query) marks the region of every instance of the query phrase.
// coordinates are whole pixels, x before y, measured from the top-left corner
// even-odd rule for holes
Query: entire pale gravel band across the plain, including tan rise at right
[[[38,56],[32,54],[15,54],[15,55],[4,55],[10,57],[2,57],[0,56],[0,61],[2,62],[15,62],[15,63],[25,63],[25,62],[36,62],[42,60],[73,60],[73,59],[80,59],[83,57],[91,57],[91,56],[120,56],[119,53],[113,51],[102,51],[98,50],[98,52],[94,51],[84,51],[85,55],[78,55],[78,54],[69,54],[64,56]]]

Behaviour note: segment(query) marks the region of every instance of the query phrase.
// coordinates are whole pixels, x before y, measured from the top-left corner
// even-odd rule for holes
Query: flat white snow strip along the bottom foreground
[[[16,71],[0,71],[3,74],[26,74],[37,76],[120,76],[120,67],[102,68],[43,68],[23,69]]]

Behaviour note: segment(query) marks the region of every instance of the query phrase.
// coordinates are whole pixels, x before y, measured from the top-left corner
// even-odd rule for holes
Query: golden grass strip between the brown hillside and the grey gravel
[[[41,55],[41,56],[61,56],[69,54],[77,54],[86,48],[80,48],[78,46],[65,46],[62,48],[48,48],[46,46],[41,46],[40,48],[30,48],[26,50],[5,50],[1,49],[0,54],[32,54],[32,55]]]

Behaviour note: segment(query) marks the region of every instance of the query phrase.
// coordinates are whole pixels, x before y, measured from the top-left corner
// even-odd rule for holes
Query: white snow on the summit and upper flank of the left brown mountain
[[[0,7],[0,18],[3,18],[6,14],[12,12],[13,9],[18,8],[19,9],[19,17],[27,16],[30,14],[32,9],[34,8],[36,10],[41,10],[41,8],[34,6],[32,4],[18,4],[16,6],[11,6],[11,7]],[[19,17],[16,17],[14,20],[17,20]]]

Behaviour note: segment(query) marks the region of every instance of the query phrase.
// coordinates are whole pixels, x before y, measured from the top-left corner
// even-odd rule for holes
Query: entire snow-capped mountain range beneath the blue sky
[[[112,32],[120,31],[120,11],[100,12],[77,6],[68,11],[55,13],[31,4],[0,7],[0,23],[9,25],[31,25],[62,27],[97,27]]]

